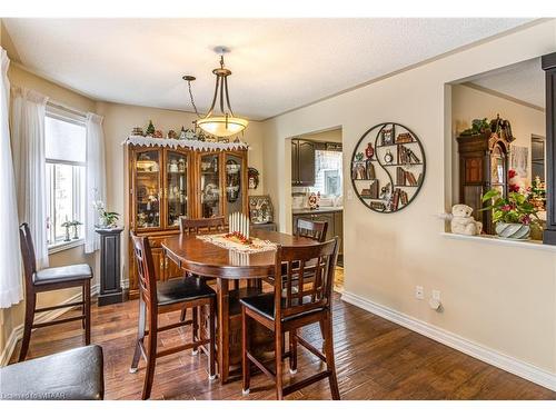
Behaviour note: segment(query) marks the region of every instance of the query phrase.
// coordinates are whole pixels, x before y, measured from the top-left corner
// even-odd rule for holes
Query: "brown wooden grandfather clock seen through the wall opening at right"
[[[459,202],[473,208],[475,219],[483,222],[483,229],[494,235],[490,210],[479,211],[484,207],[481,196],[490,188],[498,188],[507,193],[507,170],[509,142],[490,132],[459,136]]]

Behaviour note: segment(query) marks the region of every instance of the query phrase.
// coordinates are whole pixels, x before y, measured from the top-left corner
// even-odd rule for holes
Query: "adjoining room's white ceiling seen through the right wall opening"
[[[540,67],[540,58],[502,68],[470,82],[530,105],[545,107],[545,72]]]

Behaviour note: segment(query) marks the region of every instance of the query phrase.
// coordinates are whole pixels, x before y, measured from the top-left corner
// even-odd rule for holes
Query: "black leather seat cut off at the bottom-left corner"
[[[102,348],[89,345],[0,368],[0,399],[102,399]]]

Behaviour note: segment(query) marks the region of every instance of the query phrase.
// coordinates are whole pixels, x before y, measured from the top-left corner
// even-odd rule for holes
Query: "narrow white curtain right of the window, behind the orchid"
[[[99,224],[98,212],[92,207],[95,200],[106,203],[106,162],[105,133],[102,117],[87,113],[87,179],[86,179],[86,218],[85,218],[85,252],[90,254],[100,248],[100,238],[95,232]]]

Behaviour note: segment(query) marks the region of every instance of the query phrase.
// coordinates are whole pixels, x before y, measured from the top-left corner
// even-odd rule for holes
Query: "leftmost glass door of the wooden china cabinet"
[[[136,153],[136,225],[137,228],[160,227],[160,152]]]

